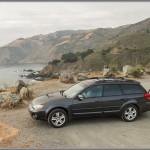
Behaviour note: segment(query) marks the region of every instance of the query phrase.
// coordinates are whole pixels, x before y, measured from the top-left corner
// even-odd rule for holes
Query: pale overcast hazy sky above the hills
[[[132,24],[150,17],[150,2],[0,2],[0,46],[67,29]]]

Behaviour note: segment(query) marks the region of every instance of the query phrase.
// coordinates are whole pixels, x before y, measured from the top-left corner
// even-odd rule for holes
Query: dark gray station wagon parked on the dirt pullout
[[[34,119],[62,127],[75,117],[119,115],[133,121],[150,110],[150,94],[139,82],[126,79],[89,79],[35,98],[29,105]]]

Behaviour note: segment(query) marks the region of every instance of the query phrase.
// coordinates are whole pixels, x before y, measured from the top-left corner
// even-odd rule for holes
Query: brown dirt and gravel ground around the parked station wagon
[[[150,76],[139,79],[148,90]],[[33,84],[34,97],[66,89],[58,80]],[[150,148],[150,112],[131,123],[119,117],[74,119],[55,129],[33,120],[28,107],[0,110],[0,148]]]

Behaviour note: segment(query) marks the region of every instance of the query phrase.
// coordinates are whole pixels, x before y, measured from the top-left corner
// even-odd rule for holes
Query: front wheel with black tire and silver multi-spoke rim
[[[61,128],[68,122],[68,115],[63,109],[54,109],[48,116],[48,123],[54,128]]]

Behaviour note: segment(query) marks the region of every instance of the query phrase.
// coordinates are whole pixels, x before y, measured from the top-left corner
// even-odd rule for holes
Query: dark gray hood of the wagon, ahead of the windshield
[[[44,104],[48,101],[55,101],[55,100],[63,100],[66,99],[65,96],[62,96],[60,92],[56,93],[50,93],[50,94],[45,94],[40,97],[37,97],[33,100],[33,105],[38,105],[38,104]]]

